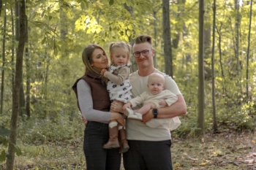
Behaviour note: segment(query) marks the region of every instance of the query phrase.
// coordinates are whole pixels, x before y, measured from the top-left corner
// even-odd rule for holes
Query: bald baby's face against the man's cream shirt
[[[165,88],[165,82],[162,80],[162,77],[154,77],[148,80],[148,90],[151,94],[157,95],[162,92]]]

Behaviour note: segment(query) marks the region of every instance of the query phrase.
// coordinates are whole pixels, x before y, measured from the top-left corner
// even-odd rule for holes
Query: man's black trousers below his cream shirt
[[[123,154],[126,170],[172,170],[170,140],[160,142],[128,140]]]

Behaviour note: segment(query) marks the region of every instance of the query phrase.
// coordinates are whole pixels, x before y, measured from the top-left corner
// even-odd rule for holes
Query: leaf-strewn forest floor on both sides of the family
[[[44,144],[19,144],[15,169],[86,169],[83,139]],[[203,139],[173,136],[173,169],[256,169],[256,134],[225,132]],[[4,163],[0,163],[4,169]],[[124,169],[121,166],[121,169]]]

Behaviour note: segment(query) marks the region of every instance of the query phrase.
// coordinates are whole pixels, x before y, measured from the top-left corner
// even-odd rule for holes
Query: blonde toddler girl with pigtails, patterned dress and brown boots
[[[131,66],[129,55],[131,54],[131,46],[125,42],[113,42],[110,44],[109,51],[111,60],[110,68],[108,70],[102,69],[100,74],[109,80],[107,89],[110,94],[110,100],[127,103],[131,99],[132,90],[132,86],[129,84]],[[108,143],[104,144],[103,148],[111,149],[120,147],[119,153],[129,150],[125,128],[118,125],[117,121],[111,121],[109,123],[109,135]],[[118,144],[118,138],[121,146]]]

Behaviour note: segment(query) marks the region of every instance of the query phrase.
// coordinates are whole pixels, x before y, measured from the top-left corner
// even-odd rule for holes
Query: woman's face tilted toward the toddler
[[[102,49],[96,48],[92,53],[91,66],[99,72],[102,69],[108,69],[108,57]]]

